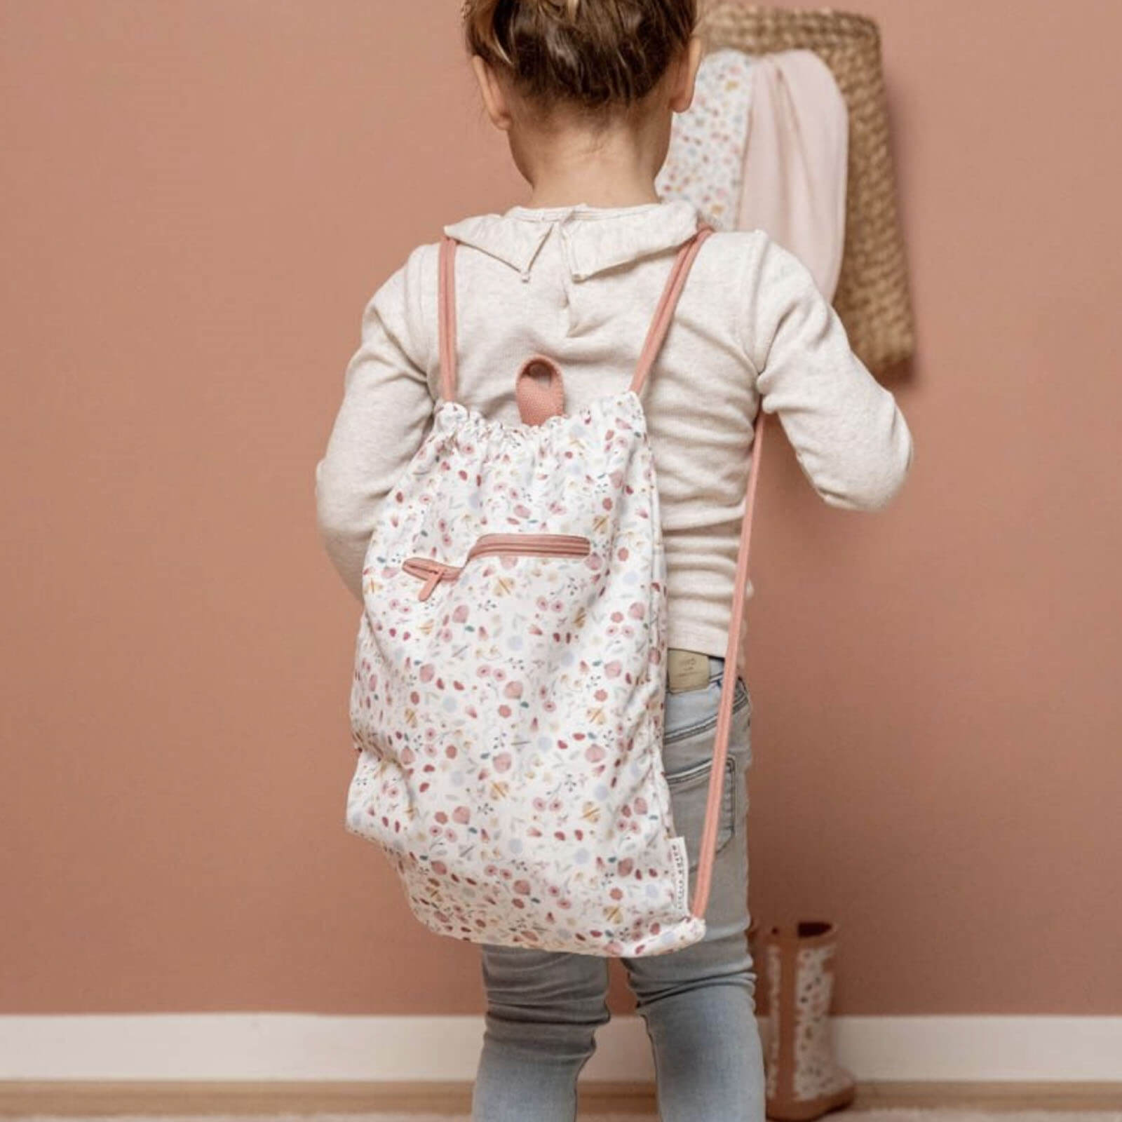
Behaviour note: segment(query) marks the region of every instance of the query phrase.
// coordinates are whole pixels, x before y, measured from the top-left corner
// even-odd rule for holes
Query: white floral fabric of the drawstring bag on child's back
[[[469,558],[488,534],[588,548]],[[346,812],[429,929],[605,956],[705,935],[662,765],[661,535],[633,390],[540,425],[436,408],[365,558]],[[417,558],[450,567],[423,597]]]

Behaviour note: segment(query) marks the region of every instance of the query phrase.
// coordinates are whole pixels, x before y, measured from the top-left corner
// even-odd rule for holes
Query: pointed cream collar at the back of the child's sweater
[[[637,206],[512,206],[503,214],[477,214],[443,228],[467,246],[505,261],[523,278],[557,227],[573,280],[614,266],[675,249],[697,233],[698,211],[686,199]]]

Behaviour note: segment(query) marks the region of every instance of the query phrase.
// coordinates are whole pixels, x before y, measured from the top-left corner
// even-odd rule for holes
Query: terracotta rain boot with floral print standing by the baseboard
[[[762,944],[767,1118],[806,1122],[849,1105],[856,1080],[835,1060],[829,1036],[837,926],[799,920],[794,928],[771,928]]]

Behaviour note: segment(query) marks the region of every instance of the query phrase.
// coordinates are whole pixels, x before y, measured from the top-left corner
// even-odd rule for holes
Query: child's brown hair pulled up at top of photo
[[[698,0],[465,0],[468,50],[550,114],[645,98],[689,43]]]

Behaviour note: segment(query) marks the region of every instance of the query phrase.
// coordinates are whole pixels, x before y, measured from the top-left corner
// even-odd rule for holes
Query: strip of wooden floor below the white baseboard
[[[1120,1083],[863,1083],[838,1120],[885,1106],[1119,1111]],[[56,1114],[468,1114],[467,1083],[4,1083],[0,1118]],[[654,1114],[649,1085],[597,1083],[580,1088],[581,1118],[597,1113]]]

